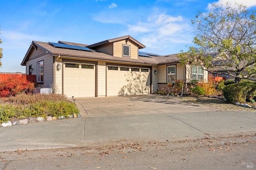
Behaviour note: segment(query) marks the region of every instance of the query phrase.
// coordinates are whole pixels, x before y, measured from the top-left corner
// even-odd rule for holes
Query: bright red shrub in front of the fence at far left
[[[20,92],[31,92],[34,83],[26,79],[26,75],[13,74],[0,82],[0,97],[15,96]]]

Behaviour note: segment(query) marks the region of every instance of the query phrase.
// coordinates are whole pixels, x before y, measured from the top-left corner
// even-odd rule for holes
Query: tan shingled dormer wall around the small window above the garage
[[[129,40],[126,44],[125,39],[121,41],[116,41],[113,43],[114,57],[122,57],[122,49],[123,49],[122,45],[130,45],[131,59],[138,59],[138,45],[131,40]]]

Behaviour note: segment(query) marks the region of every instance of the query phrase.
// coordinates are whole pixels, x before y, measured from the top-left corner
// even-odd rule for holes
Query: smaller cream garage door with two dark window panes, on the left
[[[63,90],[68,98],[95,97],[95,65],[64,63]]]

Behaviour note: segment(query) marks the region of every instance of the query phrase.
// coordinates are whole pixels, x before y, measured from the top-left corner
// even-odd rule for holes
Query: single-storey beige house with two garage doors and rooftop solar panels
[[[32,41],[21,65],[38,86],[77,98],[152,94],[176,80],[208,79],[200,66],[181,66],[176,54],[139,51],[144,48],[130,35],[92,45]]]

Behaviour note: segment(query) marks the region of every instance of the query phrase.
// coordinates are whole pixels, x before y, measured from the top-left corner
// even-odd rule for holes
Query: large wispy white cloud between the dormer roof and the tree
[[[146,45],[146,51],[177,51],[172,49],[173,44],[187,45],[192,41],[192,27],[189,21],[184,21],[182,16],[173,17],[167,14],[155,14],[144,22],[128,25],[124,33],[138,37],[138,41]],[[171,50],[172,49],[172,50]],[[180,51],[180,49],[178,49]],[[165,52],[168,54],[168,52]],[[172,52],[169,52],[170,54]]]

